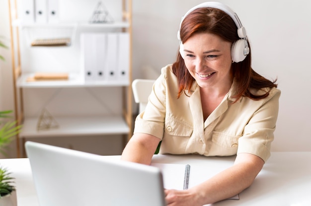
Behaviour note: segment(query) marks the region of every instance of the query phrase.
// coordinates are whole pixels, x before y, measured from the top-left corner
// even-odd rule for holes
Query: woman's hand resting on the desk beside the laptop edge
[[[164,190],[167,206],[202,206],[198,193],[193,190]]]

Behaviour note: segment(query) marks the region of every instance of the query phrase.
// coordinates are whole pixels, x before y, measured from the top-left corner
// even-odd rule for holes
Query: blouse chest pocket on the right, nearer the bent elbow
[[[214,131],[212,136],[212,142],[223,148],[237,150],[239,137],[241,136],[234,136],[223,132]]]

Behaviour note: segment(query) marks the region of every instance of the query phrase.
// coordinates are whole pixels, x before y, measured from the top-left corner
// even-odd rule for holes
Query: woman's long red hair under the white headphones
[[[217,8],[197,8],[188,14],[180,27],[180,39],[182,42],[186,42],[194,34],[202,32],[216,34],[231,43],[240,39],[237,35],[237,27],[233,19],[227,13]],[[179,52],[172,69],[178,79],[179,98],[184,90],[190,90],[195,79],[188,72]],[[231,73],[237,83],[236,101],[242,96],[253,100],[260,100],[269,95],[269,91],[263,95],[253,95],[250,92],[250,88],[260,90],[263,88],[277,87],[276,80],[272,82],[251,68],[251,51],[249,51],[249,54],[243,61],[232,63]]]

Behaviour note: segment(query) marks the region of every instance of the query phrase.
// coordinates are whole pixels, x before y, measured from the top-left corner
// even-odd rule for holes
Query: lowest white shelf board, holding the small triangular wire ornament
[[[128,134],[130,132],[122,116],[108,117],[54,117],[58,128],[37,131],[38,118],[26,118],[19,137],[55,137]]]

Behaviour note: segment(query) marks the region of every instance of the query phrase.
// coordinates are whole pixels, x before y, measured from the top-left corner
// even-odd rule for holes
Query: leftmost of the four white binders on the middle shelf
[[[84,76],[84,81],[94,81],[95,75],[95,60],[96,60],[96,39],[94,34],[85,33],[80,36],[80,51],[81,51],[81,65]]]

